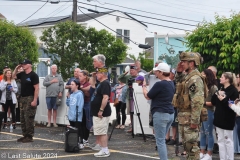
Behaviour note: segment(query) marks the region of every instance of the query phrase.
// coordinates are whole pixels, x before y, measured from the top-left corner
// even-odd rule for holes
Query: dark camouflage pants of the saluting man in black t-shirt
[[[37,107],[32,107],[33,96],[21,97],[20,99],[20,121],[24,137],[33,137],[34,118]]]

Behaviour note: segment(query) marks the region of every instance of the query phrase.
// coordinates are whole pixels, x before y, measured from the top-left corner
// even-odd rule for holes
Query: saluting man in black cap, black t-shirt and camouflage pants
[[[24,72],[17,74],[19,68]],[[17,142],[33,142],[34,118],[38,105],[39,77],[32,71],[32,62],[25,59],[13,71],[13,77],[21,80],[20,121],[23,137]]]

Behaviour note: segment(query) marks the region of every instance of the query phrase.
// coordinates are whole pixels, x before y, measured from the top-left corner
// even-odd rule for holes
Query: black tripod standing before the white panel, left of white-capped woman
[[[138,121],[139,121],[141,130],[142,130],[143,140],[144,140],[144,142],[146,142],[146,137],[145,137],[145,134],[144,134],[144,131],[143,131],[142,121],[141,121],[141,118],[140,118],[140,112],[139,112],[139,108],[138,108],[138,104],[137,104],[137,98],[136,98],[135,92],[134,92],[134,90],[132,88],[132,85],[131,86],[129,85],[129,95],[130,96],[132,95],[132,98],[135,99],[134,100],[134,108],[136,110],[136,113],[137,113],[137,116],[138,116]],[[133,126],[133,122],[132,122],[132,137],[134,138],[134,130],[133,130],[133,128],[134,128],[134,126]]]

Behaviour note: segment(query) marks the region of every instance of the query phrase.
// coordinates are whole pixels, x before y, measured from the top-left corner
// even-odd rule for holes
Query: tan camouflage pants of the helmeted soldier
[[[190,125],[178,125],[180,137],[182,137],[184,150],[188,160],[199,160],[200,149],[198,147],[199,129],[192,129]]]

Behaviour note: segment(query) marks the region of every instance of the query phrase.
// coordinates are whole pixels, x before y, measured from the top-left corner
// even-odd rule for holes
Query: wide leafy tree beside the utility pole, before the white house
[[[106,56],[107,67],[123,62],[127,55],[127,46],[111,33],[86,28],[72,21],[48,28],[40,39],[64,79],[73,74],[75,63],[81,69],[93,71],[92,57],[96,54]]]

